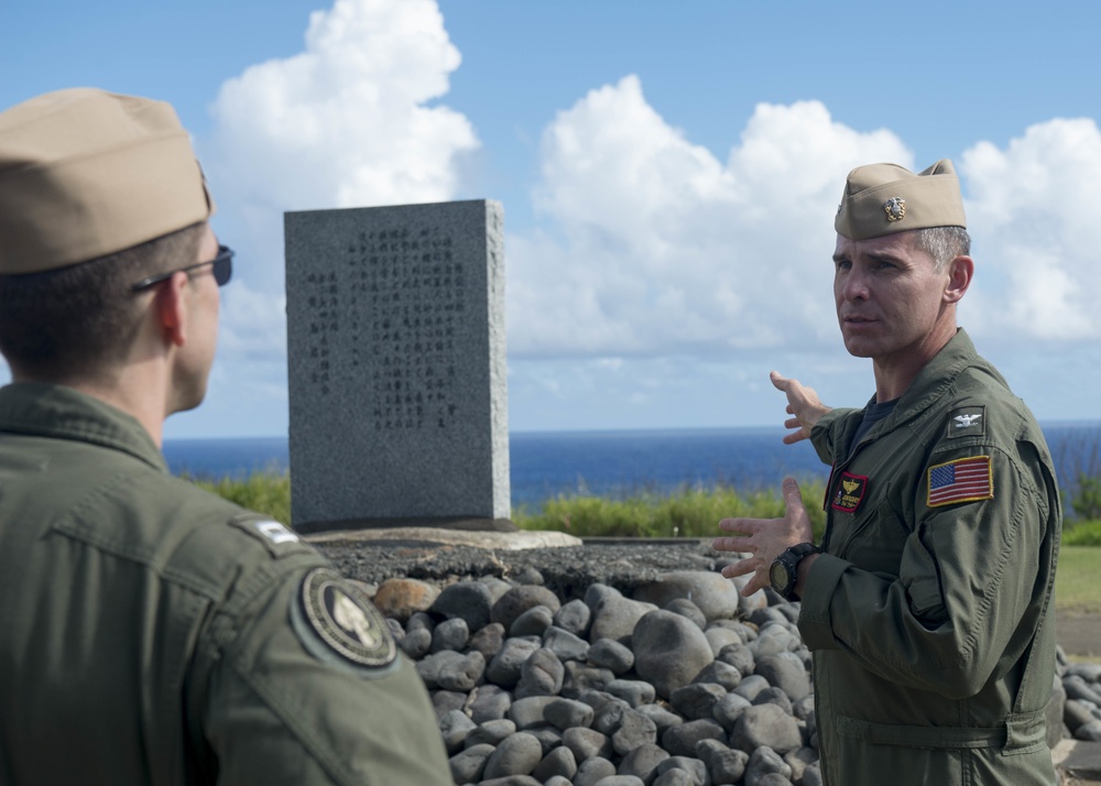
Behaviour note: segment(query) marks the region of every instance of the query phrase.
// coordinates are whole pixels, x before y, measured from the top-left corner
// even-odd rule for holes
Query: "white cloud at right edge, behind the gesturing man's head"
[[[960,171],[978,266],[968,298],[982,331],[1014,341],[1101,337],[1097,122],[1038,123],[1005,150],[979,142]]]

